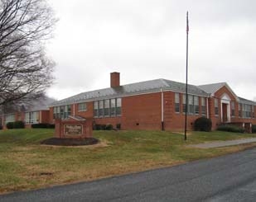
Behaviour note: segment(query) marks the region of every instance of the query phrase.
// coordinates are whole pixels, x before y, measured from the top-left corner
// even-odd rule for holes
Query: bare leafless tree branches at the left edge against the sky
[[[53,81],[46,40],[56,18],[45,0],[0,0],[0,106],[41,96]]]

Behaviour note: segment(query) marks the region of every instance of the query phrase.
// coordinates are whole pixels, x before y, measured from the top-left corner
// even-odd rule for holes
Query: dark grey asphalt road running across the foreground
[[[0,201],[256,201],[256,148],[176,167],[0,195]]]

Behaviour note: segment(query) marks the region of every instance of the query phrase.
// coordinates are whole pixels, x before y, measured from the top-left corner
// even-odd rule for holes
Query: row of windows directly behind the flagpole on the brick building
[[[205,97],[200,96],[187,96],[187,112],[190,115],[199,115],[199,99],[200,99],[200,106],[201,106],[201,115],[206,114],[206,107],[205,107]],[[175,93],[175,112],[180,113],[180,93]],[[186,94],[182,94],[182,112],[186,112]]]

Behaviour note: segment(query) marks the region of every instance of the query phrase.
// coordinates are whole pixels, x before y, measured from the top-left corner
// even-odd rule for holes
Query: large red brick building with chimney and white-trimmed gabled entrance
[[[120,85],[119,73],[110,74],[110,87],[83,92],[53,102],[49,121],[69,115],[93,118],[94,124],[117,124],[121,129],[181,130],[185,120],[186,85],[156,79]],[[255,103],[236,96],[225,82],[188,85],[188,128],[205,116],[213,129],[221,123],[256,124]]]

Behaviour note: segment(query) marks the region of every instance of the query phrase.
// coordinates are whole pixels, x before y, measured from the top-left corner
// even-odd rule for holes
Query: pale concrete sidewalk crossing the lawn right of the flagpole
[[[220,148],[220,147],[238,145],[238,144],[242,144],[242,143],[255,143],[255,142],[256,142],[256,138],[235,139],[235,140],[227,140],[227,141],[215,141],[212,143],[191,144],[190,147],[192,147],[192,148]]]

